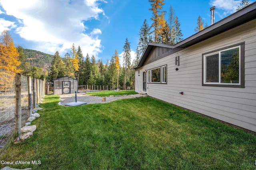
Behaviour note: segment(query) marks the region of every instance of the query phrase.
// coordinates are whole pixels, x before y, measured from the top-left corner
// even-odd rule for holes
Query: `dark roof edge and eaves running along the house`
[[[132,69],[140,68],[143,65],[153,47],[167,47],[177,51],[178,49],[190,47],[196,43],[200,43],[201,41],[209,39],[210,37],[214,37],[220,33],[228,31],[254,19],[256,19],[256,2],[253,2],[249,6],[246,6],[245,8],[210,25],[209,27],[206,27],[202,31],[199,31],[198,33],[188,37],[187,39],[184,39],[183,41],[180,41],[175,45],[148,43],[142,54],[142,57],[140,58],[140,61]]]

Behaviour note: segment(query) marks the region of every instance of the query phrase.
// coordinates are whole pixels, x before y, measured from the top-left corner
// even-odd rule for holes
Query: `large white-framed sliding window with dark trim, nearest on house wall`
[[[244,87],[244,43],[203,54],[203,85]]]

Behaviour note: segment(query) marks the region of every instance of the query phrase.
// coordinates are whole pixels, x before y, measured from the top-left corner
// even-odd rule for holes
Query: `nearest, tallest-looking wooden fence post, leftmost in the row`
[[[18,135],[21,133],[21,74],[16,73],[15,75],[15,131]]]

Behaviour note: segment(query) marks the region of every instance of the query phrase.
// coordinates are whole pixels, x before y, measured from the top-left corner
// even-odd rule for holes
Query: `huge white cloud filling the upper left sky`
[[[88,28],[84,22],[98,20],[104,11],[97,2],[103,0],[1,0],[9,16],[18,19],[16,33],[34,42],[36,50],[61,55],[69,52],[74,43],[83,53],[97,56],[101,52],[98,35],[101,30]],[[4,22],[0,21],[0,25]],[[20,24],[22,23],[22,24]],[[5,23],[7,24],[7,22]],[[8,24],[7,24],[8,25]],[[14,28],[14,23],[9,23]],[[88,29],[92,30],[87,32]]]

